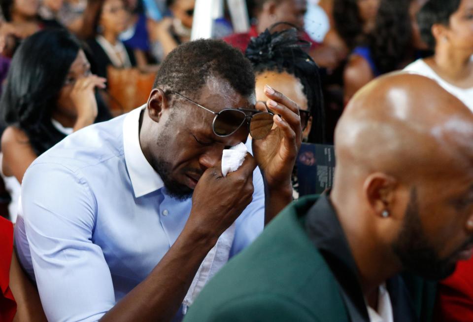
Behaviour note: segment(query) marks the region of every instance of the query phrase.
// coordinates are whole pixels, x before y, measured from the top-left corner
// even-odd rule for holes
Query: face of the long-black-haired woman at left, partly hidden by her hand
[[[57,110],[53,112],[54,115],[61,114],[66,115],[69,118],[77,117],[77,111],[75,110],[74,104],[70,99],[70,93],[74,88],[76,81],[80,78],[87,77],[90,75],[90,64],[85,56],[82,49],[79,50],[76,59],[72,62],[69,68],[69,72],[66,75],[64,85],[59,92],[59,98],[57,101]]]

